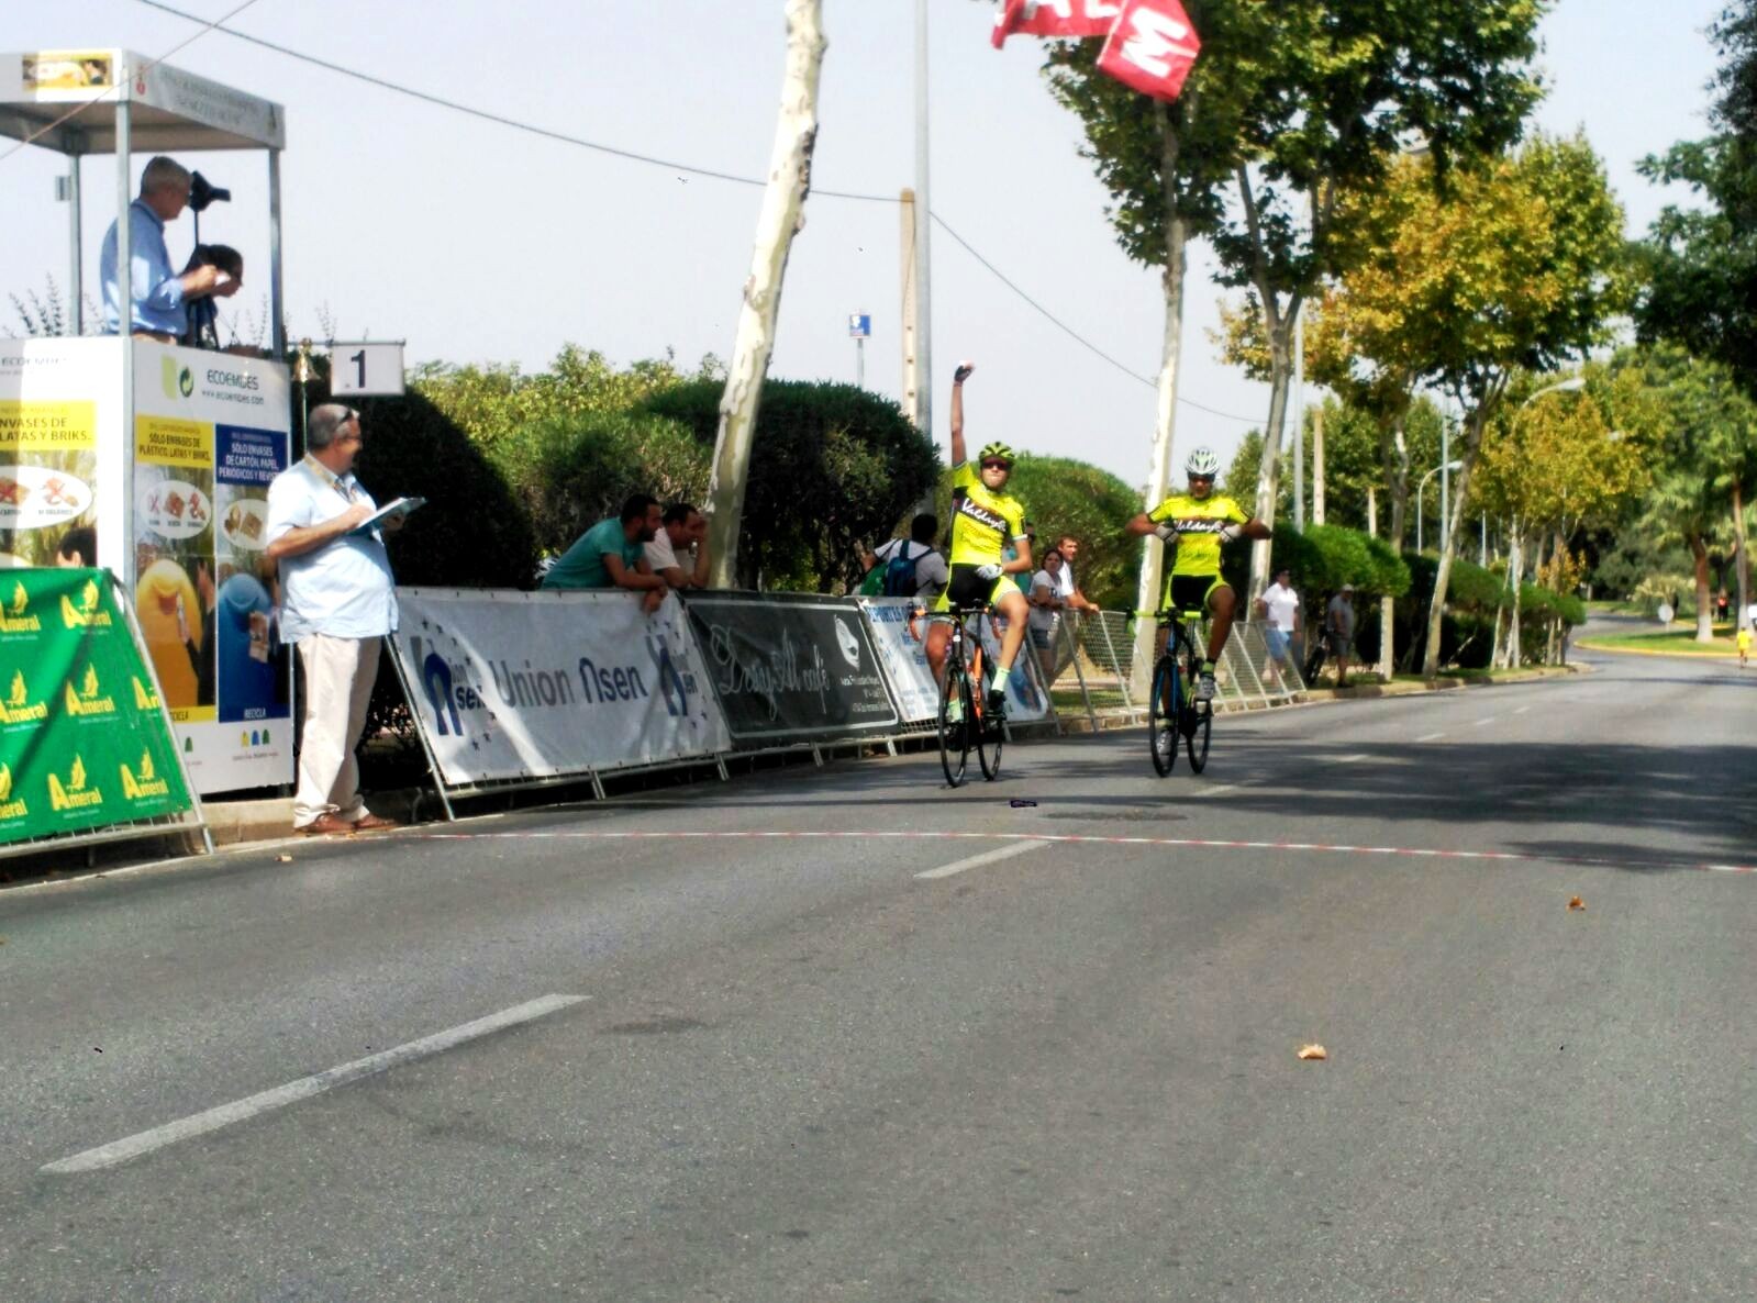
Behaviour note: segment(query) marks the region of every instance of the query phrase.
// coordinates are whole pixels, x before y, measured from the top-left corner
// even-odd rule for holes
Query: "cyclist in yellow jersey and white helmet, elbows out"
[[[1153,511],[1142,511],[1128,522],[1130,534],[1153,534],[1174,550],[1172,576],[1167,583],[1167,606],[1177,611],[1207,609],[1214,616],[1209,629],[1207,660],[1197,697],[1214,701],[1214,662],[1226,646],[1232,616],[1239,595],[1219,578],[1219,548],[1237,537],[1267,539],[1270,529],[1254,520],[1225,493],[1214,492],[1219,458],[1211,448],[1191,450],[1184,462],[1189,490],[1172,493]]]

